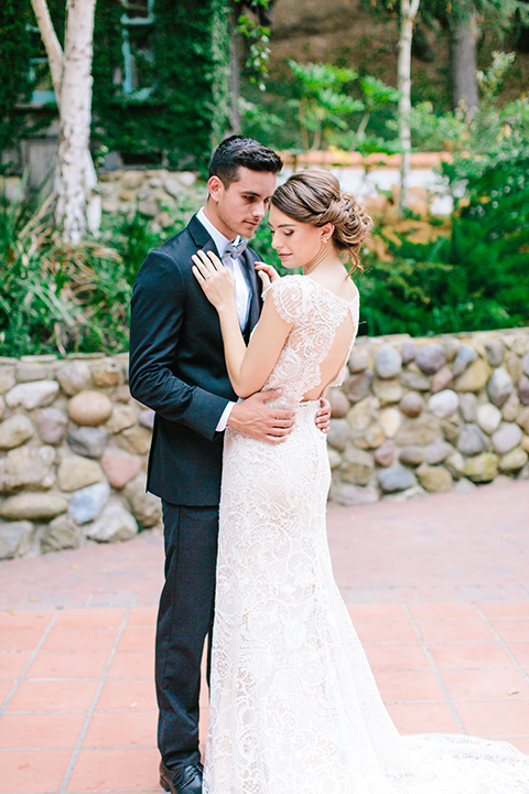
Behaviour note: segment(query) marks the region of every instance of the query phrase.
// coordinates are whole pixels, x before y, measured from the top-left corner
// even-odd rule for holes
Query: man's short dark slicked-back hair
[[[218,176],[224,186],[229,187],[238,181],[240,167],[276,174],[283,168],[283,161],[272,149],[253,138],[230,136],[213,152],[209,176]]]

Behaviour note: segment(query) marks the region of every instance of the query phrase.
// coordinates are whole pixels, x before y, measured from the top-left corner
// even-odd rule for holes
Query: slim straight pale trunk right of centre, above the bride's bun
[[[397,65],[397,87],[399,99],[399,140],[402,150],[400,167],[400,196],[399,208],[402,212],[407,203],[408,174],[410,172],[411,133],[411,40],[413,36],[413,21],[419,11],[420,0],[401,0],[400,2],[400,32],[399,60]]]

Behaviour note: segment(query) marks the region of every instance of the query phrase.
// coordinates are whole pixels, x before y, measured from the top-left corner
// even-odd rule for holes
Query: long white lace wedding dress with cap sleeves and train
[[[301,403],[358,300],[302,276],[269,289],[294,324],[263,389],[296,421],[278,446],[226,432],[205,794],[528,794],[511,745],[391,722],[333,579],[326,440]]]

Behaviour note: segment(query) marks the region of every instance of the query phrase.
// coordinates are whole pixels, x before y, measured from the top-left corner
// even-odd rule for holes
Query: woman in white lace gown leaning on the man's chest
[[[358,328],[358,265],[371,222],[337,180],[278,187],[264,290],[248,348],[235,279],[209,251],[194,275],[217,309],[229,378],[247,397],[281,388],[296,412],[281,444],[233,430],[224,446],[205,794],[528,794],[529,758],[466,736],[399,736],[333,579],[330,465],[314,425]],[[349,271],[350,272],[350,271]]]

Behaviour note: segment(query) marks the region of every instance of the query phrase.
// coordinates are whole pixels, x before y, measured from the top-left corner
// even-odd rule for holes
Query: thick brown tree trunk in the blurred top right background
[[[472,116],[478,106],[476,83],[476,41],[479,30],[474,3],[460,0],[450,20],[452,103],[464,103]]]

